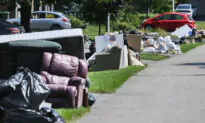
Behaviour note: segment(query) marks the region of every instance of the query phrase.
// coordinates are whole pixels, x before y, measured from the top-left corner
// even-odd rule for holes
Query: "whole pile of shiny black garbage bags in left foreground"
[[[52,108],[40,104],[50,94],[38,74],[21,68],[8,80],[0,82],[1,123],[65,123]]]

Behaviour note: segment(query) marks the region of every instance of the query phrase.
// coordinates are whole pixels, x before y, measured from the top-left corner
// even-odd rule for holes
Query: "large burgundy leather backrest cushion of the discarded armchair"
[[[75,56],[54,53],[50,64],[50,73],[66,77],[77,76],[79,60]]]

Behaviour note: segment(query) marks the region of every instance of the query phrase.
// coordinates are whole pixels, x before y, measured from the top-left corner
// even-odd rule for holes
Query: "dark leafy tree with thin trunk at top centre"
[[[83,4],[82,12],[84,19],[89,22],[99,24],[99,34],[101,34],[101,24],[105,24],[108,13],[118,13],[124,8],[129,0],[81,0]]]

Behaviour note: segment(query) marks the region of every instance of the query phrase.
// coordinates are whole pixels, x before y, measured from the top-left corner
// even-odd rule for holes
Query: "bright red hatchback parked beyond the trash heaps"
[[[190,28],[196,28],[195,21],[190,15],[177,13],[177,12],[167,12],[160,14],[154,18],[144,20],[142,23],[142,28],[162,28],[167,31],[174,31],[187,24]]]

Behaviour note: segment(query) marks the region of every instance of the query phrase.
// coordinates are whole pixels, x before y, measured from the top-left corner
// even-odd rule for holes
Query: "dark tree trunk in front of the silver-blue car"
[[[30,18],[31,18],[31,4],[27,1],[21,1],[21,26],[25,29],[25,32],[31,32],[30,30]]]

